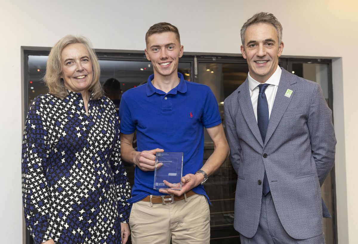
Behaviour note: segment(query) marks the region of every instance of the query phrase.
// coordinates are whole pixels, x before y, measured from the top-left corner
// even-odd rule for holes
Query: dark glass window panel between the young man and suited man
[[[247,77],[246,63],[199,63],[199,83],[207,85],[213,91],[219,105],[221,119],[224,125],[224,100]],[[225,125],[224,125],[225,126]],[[214,151],[214,145],[205,130],[204,134],[204,163]],[[233,228],[234,198],[237,174],[229,159],[215,172],[205,184],[212,205],[210,206],[211,242],[238,243],[240,237]],[[218,191],[217,189],[220,189]]]

